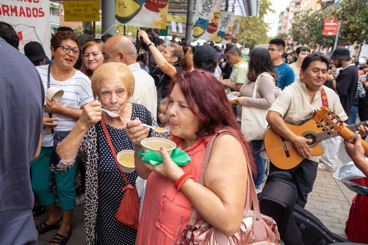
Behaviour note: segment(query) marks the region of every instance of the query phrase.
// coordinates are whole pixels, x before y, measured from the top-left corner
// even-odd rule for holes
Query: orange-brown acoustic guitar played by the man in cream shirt
[[[315,118],[318,118],[318,116],[315,116]],[[366,122],[368,121],[344,126],[344,129],[357,131],[358,127],[360,125],[365,125]],[[343,123],[341,122],[341,125],[342,124]],[[322,140],[328,140],[329,138],[339,136],[338,133],[330,131],[325,127],[316,127],[316,122],[312,118],[305,120],[300,125],[286,123],[286,126],[297,136],[302,136],[312,140],[312,142],[309,143],[309,148],[311,148],[311,155],[313,156],[320,156],[323,154],[323,149],[320,144]],[[298,154],[296,149],[294,149],[294,146],[290,141],[279,136],[270,127],[265,131],[263,142],[265,144],[268,158],[273,165],[280,169],[291,169],[297,166],[304,159]],[[362,144],[364,144],[363,141]]]

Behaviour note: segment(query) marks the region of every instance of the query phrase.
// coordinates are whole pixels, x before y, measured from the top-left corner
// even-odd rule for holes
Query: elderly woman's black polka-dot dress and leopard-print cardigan
[[[145,114],[143,114],[144,112]],[[134,120],[136,116],[139,117],[142,123],[147,123],[146,119],[146,113],[149,113],[152,118],[152,126],[157,127],[158,123],[156,119],[153,117],[153,115],[142,105],[138,104],[132,104],[132,116],[131,120]],[[104,164],[104,161],[101,161],[104,156],[102,155],[109,155],[111,153],[111,150],[108,148],[106,149],[104,145],[104,141],[106,140],[105,134],[103,131],[100,131],[100,125],[101,123],[98,122],[92,127],[89,128],[87,133],[85,134],[81,146],[78,149],[77,156],[79,156],[82,161],[85,163],[85,169],[86,169],[86,184],[85,184],[85,205],[84,205],[84,230],[85,230],[85,237],[86,237],[86,245],[95,245],[95,244],[103,244],[103,245],[109,245],[109,244],[134,244],[135,242],[135,236],[137,235],[137,231],[132,230],[131,228],[124,226],[121,223],[118,223],[118,221],[114,218],[114,215],[117,211],[117,208],[112,206],[116,206],[116,204],[109,205],[106,207],[107,201],[102,201],[103,206],[99,203],[99,184],[104,184],[107,182],[111,182],[108,180],[102,180],[99,178],[101,177],[101,173],[99,171],[101,170],[101,167],[103,168],[106,163]],[[124,141],[127,146],[127,148],[124,149],[134,149],[134,145],[128,144],[126,141],[128,138],[126,136],[126,130],[122,129],[114,129],[113,127],[108,127],[107,131],[109,132],[110,137],[112,138],[114,148],[117,146],[116,141],[121,140]],[[114,130],[120,130],[119,137],[116,139],[113,139],[112,132]],[[111,131],[111,132],[110,132]],[[121,139],[120,139],[121,137]],[[125,138],[126,137],[126,138]],[[162,137],[166,138],[168,137],[167,134],[158,134],[152,131],[152,137]],[[115,137],[114,137],[115,138]],[[115,143],[114,143],[115,141]],[[129,141],[129,140],[128,140]],[[106,141],[107,142],[107,141]],[[130,142],[131,143],[131,142]],[[102,149],[103,147],[103,149]],[[108,144],[107,144],[108,147]],[[121,145],[116,148],[116,152],[123,150],[121,148]],[[109,151],[109,152],[107,152]],[[106,159],[105,159],[106,160]],[[106,162],[106,161],[105,161]],[[52,156],[52,162],[50,164],[50,169],[54,173],[63,173],[66,172],[68,169],[71,168],[71,165],[66,166],[65,163],[59,158],[59,155],[57,155],[56,151],[53,152]],[[112,163],[110,161],[110,163]],[[113,173],[112,169],[113,166],[116,168],[114,171],[116,172],[114,176],[120,176],[120,179],[122,179],[119,170],[117,169],[116,163],[109,165],[109,171]],[[66,167],[61,167],[66,166]],[[106,170],[106,169],[105,169]],[[111,177],[111,176],[110,176]],[[134,180],[131,183],[135,183],[135,179],[137,178],[137,173],[134,171],[133,173],[126,174],[127,178],[130,178],[129,180]],[[107,182],[106,182],[107,181]],[[118,181],[118,183],[115,183],[114,185],[119,185],[119,188],[124,186],[123,181]],[[107,190],[106,186],[100,187],[103,190]],[[114,187],[116,188],[116,186]],[[123,195],[121,193],[108,193],[104,194],[105,198],[113,198],[116,199],[115,201],[118,201],[120,204],[121,198]],[[109,209],[108,212],[102,212],[104,208]],[[115,220],[114,220],[115,219]],[[98,222],[96,222],[98,220]],[[114,221],[113,221],[114,220]],[[116,221],[116,222],[115,222]],[[121,227],[124,227],[124,229],[120,230]],[[134,242],[133,242],[134,241]]]

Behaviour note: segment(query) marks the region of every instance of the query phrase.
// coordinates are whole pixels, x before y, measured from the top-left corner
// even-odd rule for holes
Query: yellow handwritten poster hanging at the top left
[[[99,21],[99,1],[63,1],[65,21]]]

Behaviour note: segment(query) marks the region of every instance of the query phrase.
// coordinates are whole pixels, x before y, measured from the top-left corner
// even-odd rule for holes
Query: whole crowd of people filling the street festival
[[[317,169],[335,170],[336,144],[342,138],[323,142],[325,153],[318,158],[310,154],[310,140],[294,134],[286,123],[303,122],[327,100],[346,123],[355,123],[357,114],[368,120],[368,67],[357,68],[346,48],[337,48],[329,59],[300,46],[288,65],[282,39],[270,40],[267,50],[213,43],[192,47],[185,40],[177,42],[176,36],[160,39],[151,29],[137,35],[140,50],[130,36],[93,39],[62,27],[51,38],[49,59],[37,42],[27,43],[22,55],[13,27],[0,22],[0,54],[7,57],[0,62],[0,87],[7,92],[0,121],[0,214],[5,219],[0,233],[7,234],[0,237],[1,244],[36,244],[39,234],[51,230],[56,232],[50,245],[66,244],[72,234],[77,172],[85,186],[88,245],[181,244],[193,208],[197,221],[205,219],[229,237],[240,227],[250,192],[247,159],[256,191],[262,191],[263,134],[254,134],[260,120],[291,141],[304,158],[293,169],[279,169],[272,162],[269,169],[291,174],[302,207]],[[60,100],[45,97],[49,87],[64,91]],[[236,96],[235,105],[229,95]],[[252,116],[258,112],[263,118]],[[168,131],[156,133],[142,124]],[[363,138],[367,126],[359,127]],[[201,185],[206,146],[220,132],[231,134],[216,141]],[[133,185],[138,176],[147,180],[136,230],[115,217],[126,181],[112,147],[116,152],[143,151],[141,141],[147,137],[169,138],[191,162],[177,166],[164,147],[158,166],[135,154],[135,171],[125,177]],[[347,143],[346,150],[367,174],[359,139],[355,145]],[[185,180],[180,188],[174,185],[178,180]],[[43,212],[46,220],[34,226],[32,216]]]

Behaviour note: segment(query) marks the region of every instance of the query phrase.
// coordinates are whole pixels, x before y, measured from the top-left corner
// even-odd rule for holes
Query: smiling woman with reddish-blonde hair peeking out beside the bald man
[[[89,78],[102,65],[102,46],[101,39],[93,39],[92,41],[86,42],[82,47],[82,72]]]

